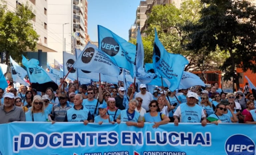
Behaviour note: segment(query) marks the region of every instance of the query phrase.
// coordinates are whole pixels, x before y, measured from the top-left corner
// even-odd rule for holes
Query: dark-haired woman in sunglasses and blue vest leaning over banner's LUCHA
[[[159,125],[167,124],[170,118],[163,113],[160,113],[160,108],[156,100],[152,100],[149,104],[149,112],[144,115],[144,121],[154,123],[153,128],[158,128]]]

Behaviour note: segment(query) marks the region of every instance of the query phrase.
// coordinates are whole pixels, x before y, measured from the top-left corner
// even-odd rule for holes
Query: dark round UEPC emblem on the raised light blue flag
[[[101,50],[110,56],[115,56],[119,51],[119,45],[115,39],[106,37],[101,41]]]

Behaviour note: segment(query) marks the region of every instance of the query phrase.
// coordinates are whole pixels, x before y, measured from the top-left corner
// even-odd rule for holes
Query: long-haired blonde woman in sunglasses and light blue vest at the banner
[[[42,97],[34,96],[31,109],[25,113],[26,121],[51,121],[49,111],[44,109]]]

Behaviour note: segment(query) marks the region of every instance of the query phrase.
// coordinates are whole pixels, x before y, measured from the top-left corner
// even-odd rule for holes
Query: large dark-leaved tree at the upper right
[[[233,76],[239,88],[236,67],[256,72],[256,8],[245,0],[201,0],[201,4],[205,7],[199,22],[184,27],[190,33],[187,49],[195,53],[204,49],[205,55],[216,54],[217,48],[228,52],[220,69],[226,72],[224,80]]]

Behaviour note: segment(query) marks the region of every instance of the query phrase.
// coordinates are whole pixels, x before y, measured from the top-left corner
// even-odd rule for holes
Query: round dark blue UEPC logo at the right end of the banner
[[[228,155],[255,155],[255,144],[252,139],[246,135],[235,134],[227,139],[225,151]]]

